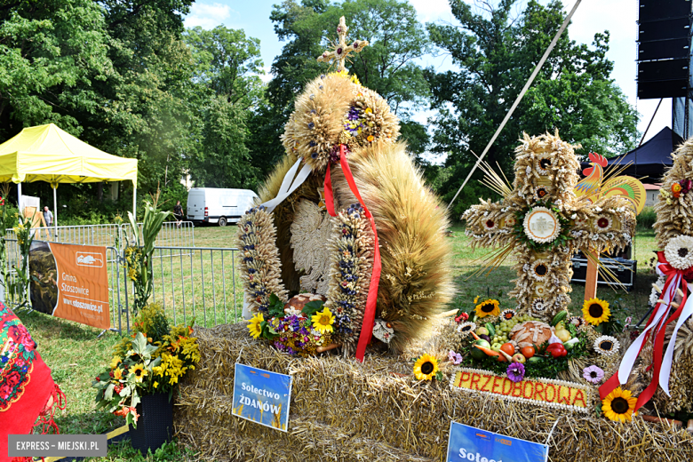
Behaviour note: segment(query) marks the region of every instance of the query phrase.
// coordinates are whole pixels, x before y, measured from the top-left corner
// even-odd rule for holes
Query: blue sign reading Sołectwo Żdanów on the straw
[[[291,376],[238,363],[234,375],[232,414],[287,432]]]

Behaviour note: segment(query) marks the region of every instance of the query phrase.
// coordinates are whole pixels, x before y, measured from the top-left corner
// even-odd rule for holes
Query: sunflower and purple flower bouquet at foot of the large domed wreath
[[[308,356],[322,353],[333,345],[333,335],[339,323],[322,300],[307,303],[302,309],[284,309],[283,302],[272,294],[267,307],[267,319],[262,313],[254,315],[248,331],[254,339],[266,339],[283,353]]]

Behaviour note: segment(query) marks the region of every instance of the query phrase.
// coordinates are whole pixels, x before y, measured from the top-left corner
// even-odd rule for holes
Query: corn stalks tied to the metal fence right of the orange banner
[[[152,202],[145,202],[145,215],[141,230],[137,224],[137,219],[131,212],[128,212],[134,245],[125,249],[125,268],[128,278],[135,287],[135,299],[132,303],[132,310],[135,315],[147,305],[147,300],[152,294],[154,243],[156,236],[161,231],[163,220],[171,214],[169,211],[156,210],[159,194],[160,191],[157,191],[156,195],[152,197]]]

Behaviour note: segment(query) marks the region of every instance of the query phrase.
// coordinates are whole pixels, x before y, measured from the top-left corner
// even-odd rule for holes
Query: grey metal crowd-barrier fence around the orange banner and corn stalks
[[[181,227],[175,222],[163,224],[153,255],[154,290],[150,301],[160,303],[174,324],[190,323],[192,319],[195,325],[204,327],[237,323],[243,318],[243,291],[236,291],[240,277],[235,261],[238,249],[195,247],[194,227],[187,223]],[[130,226],[63,227],[61,231],[60,243],[106,247],[111,329],[129,332],[134,285],[123,264],[124,249],[131,241]],[[180,245],[188,242],[191,245]],[[19,247],[16,239],[6,239],[6,243],[8,264],[14,265],[19,261]]]

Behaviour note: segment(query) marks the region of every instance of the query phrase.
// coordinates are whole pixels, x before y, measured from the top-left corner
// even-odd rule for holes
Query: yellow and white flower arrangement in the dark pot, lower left
[[[96,388],[97,409],[106,409],[137,426],[137,405],[147,394],[168,393],[200,361],[193,323],[169,326],[163,308],[145,307],[134,324],[131,338],[114,347],[108,367],[92,380]]]

